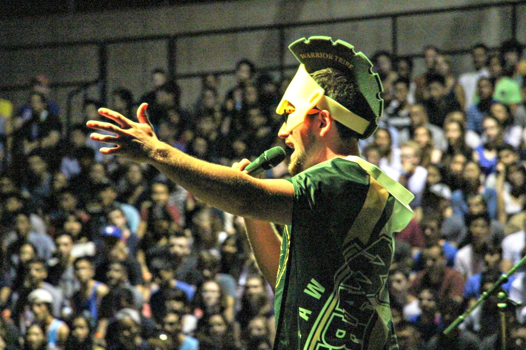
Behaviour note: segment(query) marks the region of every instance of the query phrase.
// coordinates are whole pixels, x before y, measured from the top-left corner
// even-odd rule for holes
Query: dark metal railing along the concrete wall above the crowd
[[[210,73],[216,75],[229,75],[234,73],[232,70],[221,70],[221,71],[200,71],[194,73],[176,73],[176,55],[177,55],[177,40],[182,38],[189,37],[201,37],[209,35],[221,35],[221,34],[236,34],[243,33],[248,31],[261,31],[261,30],[278,30],[278,41],[279,41],[279,63],[275,66],[265,67],[261,70],[277,70],[281,75],[283,75],[286,69],[295,68],[297,65],[286,65],[285,64],[285,54],[286,54],[286,36],[285,31],[292,28],[301,28],[308,26],[320,26],[320,25],[330,25],[338,23],[352,23],[352,22],[363,22],[368,20],[376,19],[390,19],[391,22],[391,48],[392,55],[397,56],[398,54],[398,19],[401,17],[409,16],[426,16],[432,14],[441,14],[441,13],[454,13],[454,12],[468,12],[472,10],[483,10],[489,8],[503,8],[511,7],[511,33],[513,38],[517,37],[517,7],[520,5],[526,4],[526,0],[518,1],[505,1],[500,3],[490,3],[490,4],[478,4],[478,5],[466,5],[458,7],[447,7],[447,8],[437,8],[437,9],[423,9],[423,10],[409,10],[398,13],[381,13],[375,15],[366,15],[366,16],[356,16],[356,17],[347,17],[347,18],[338,18],[338,19],[326,19],[326,20],[316,20],[308,22],[299,22],[299,23],[287,23],[287,24],[272,24],[272,25],[262,25],[262,26],[246,26],[246,27],[236,27],[228,29],[211,29],[211,30],[200,30],[200,31],[188,31],[186,33],[180,33],[176,35],[152,35],[152,36],[137,36],[137,37],[122,37],[122,38],[113,38],[107,40],[78,40],[78,41],[57,41],[33,45],[20,45],[20,46],[0,46],[1,51],[23,51],[23,50],[34,50],[34,49],[49,49],[49,48],[65,48],[65,47],[82,47],[82,46],[97,46],[98,48],[98,77],[94,81],[73,81],[73,82],[56,82],[50,84],[50,88],[77,88],[82,89],[83,87],[87,88],[98,84],[99,98],[102,102],[106,102],[107,98],[107,77],[108,77],[108,64],[107,64],[107,50],[108,46],[112,44],[123,44],[123,43],[136,43],[140,41],[152,41],[152,40],[166,40],[167,41],[167,62],[168,62],[168,75],[171,79],[184,79],[184,78],[196,78],[204,77]],[[471,50],[470,47],[465,47],[457,50],[447,50],[444,53],[449,55],[459,55],[467,54]],[[403,57],[422,57],[422,54],[412,54],[404,55]],[[29,84],[18,84],[10,86],[0,86],[0,91],[20,91],[28,90],[31,86]],[[75,90],[75,91],[77,91]],[[71,103],[72,97],[71,93],[68,94],[68,103]],[[71,115],[71,106],[66,107],[67,115],[66,121],[70,120]]]

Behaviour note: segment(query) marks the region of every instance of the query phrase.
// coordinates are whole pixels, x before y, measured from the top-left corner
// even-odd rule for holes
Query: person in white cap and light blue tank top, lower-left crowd
[[[29,293],[27,300],[35,320],[42,325],[47,335],[48,346],[62,348],[66,344],[69,327],[64,321],[55,319],[51,310],[53,296],[45,289],[38,288]]]

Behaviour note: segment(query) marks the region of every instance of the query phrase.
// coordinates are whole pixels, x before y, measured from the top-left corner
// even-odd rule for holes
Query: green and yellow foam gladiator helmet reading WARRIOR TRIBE
[[[360,139],[371,136],[378,128],[377,119],[383,111],[380,97],[383,89],[369,59],[345,41],[332,41],[326,36],[298,39],[289,49],[301,65],[276,109],[279,114],[290,112],[287,131],[302,123],[307,111],[317,107],[329,110],[335,120],[355,131]],[[325,96],[325,90],[310,77],[311,73],[325,68],[336,69],[356,83],[359,93],[353,110]]]

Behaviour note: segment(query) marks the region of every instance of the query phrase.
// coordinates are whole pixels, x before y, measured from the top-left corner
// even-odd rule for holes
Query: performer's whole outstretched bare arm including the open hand
[[[93,140],[117,145],[103,147],[100,152],[154,165],[188,192],[228,213],[279,224],[291,223],[294,187],[290,182],[256,179],[226,166],[198,160],[160,142],[150,126],[146,107],[143,103],[137,110],[139,123],[117,112],[99,109],[100,114],[120,124],[119,127],[105,122],[87,122],[89,128],[117,135],[93,133]]]

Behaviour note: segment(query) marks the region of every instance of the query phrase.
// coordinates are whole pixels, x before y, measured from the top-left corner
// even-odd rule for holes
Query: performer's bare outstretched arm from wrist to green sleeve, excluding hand
[[[153,151],[150,163],[211,206],[234,215],[290,224],[294,189],[286,180],[256,179],[164,143]]]

